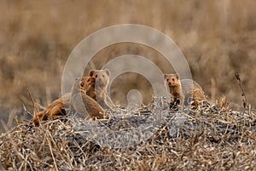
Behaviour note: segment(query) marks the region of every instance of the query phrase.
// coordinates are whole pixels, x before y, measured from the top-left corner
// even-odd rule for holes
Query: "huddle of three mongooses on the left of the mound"
[[[33,123],[38,126],[40,120],[65,116],[67,114],[65,107],[73,107],[80,114],[87,111],[93,118],[103,118],[104,110],[102,108],[112,110],[107,102],[109,71],[108,69],[92,70],[89,75],[90,77],[78,78],[73,84],[71,93],[64,94],[49,104],[44,111],[39,111],[34,116]]]

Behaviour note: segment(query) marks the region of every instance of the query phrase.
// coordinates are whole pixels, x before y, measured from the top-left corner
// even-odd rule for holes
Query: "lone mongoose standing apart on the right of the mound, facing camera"
[[[199,101],[207,100],[201,86],[190,79],[180,79],[176,74],[164,74],[167,86],[172,96],[172,103],[181,105],[183,109],[184,102],[192,98],[194,105],[197,106]]]

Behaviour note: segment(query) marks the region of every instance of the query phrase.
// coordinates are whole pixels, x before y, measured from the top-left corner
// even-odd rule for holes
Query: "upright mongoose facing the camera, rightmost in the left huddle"
[[[104,109],[113,111],[113,102],[110,100],[107,94],[107,88],[109,83],[109,71],[105,70],[91,70],[89,72],[90,77],[96,78],[95,86],[90,88],[88,95],[96,100]]]

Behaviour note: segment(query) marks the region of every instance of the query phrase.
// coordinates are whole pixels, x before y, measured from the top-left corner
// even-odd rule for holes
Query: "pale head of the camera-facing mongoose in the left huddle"
[[[108,69],[105,70],[91,70],[89,72],[90,77],[96,78],[95,85],[100,88],[107,88],[109,82],[109,71]]]

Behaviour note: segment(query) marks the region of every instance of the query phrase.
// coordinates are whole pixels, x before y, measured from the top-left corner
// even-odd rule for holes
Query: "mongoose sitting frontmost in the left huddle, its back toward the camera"
[[[79,114],[86,116],[88,113],[92,118],[103,119],[104,110],[102,107],[96,100],[93,100],[86,94],[89,93],[91,85],[94,83],[95,77],[86,77],[85,82],[84,77],[77,78],[71,92],[71,105]]]

